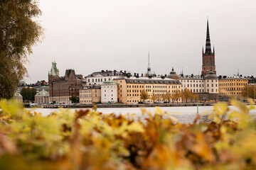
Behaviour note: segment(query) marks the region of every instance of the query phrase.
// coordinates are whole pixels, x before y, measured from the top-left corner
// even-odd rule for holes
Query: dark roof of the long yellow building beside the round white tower
[[[118,77],[114,80],[125,79],[129,84],[181,84],[180,81],[166,77]]]

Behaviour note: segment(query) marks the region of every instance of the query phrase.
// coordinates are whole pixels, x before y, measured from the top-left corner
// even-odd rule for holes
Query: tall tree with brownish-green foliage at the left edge
[[[27,74],[24,64],[43,34],[36,21],[40,15],[36,0],[0,1],[0,98],[14,96]]]

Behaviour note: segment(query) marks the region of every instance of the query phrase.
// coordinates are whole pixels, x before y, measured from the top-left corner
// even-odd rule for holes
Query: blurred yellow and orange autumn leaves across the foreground
[[[181,124],[160,108],[143,120],[97,108],[43,117],[4,100],[0,169],[256,169],[255,103],[231,103]]]

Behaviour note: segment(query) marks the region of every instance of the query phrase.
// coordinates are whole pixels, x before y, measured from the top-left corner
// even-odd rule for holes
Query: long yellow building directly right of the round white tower
[[[147,91],[149,98],[158,96],[161,98],[167,92],[173,94],[176,90],[181,91],[181,83],[174,79],[166,77],[119,77],[113,81],[117,82],[117,98],[121,103],[139,103],[142,102],[140,94],[143,90]],[[164,102],[161,98],[160,102]],[[178,101],[181,102],[181,99]],[[154,103],[153,100],[147,100]]]

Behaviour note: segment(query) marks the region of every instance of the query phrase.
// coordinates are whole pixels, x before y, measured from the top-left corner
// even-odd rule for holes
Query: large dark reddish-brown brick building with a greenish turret
[[[48,74],[49,101],[53,103],[71,103],[71,96],[79,96],[79,89],[82,87],[82,75],[75,74],[74,69],[66,69],[65,76],[60,77],[56,63]]]

